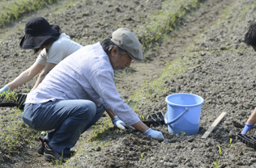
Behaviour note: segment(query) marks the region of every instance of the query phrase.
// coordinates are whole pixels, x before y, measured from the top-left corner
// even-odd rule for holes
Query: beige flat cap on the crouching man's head
[[[111,40],[118,47],[125,50],[134,61],[143,61],[142,45],[134,33],[128,28],[122,27],[113,31]]]

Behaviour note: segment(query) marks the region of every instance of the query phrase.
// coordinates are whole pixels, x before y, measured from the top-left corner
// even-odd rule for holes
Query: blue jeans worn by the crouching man
[[[40,104],[28,103],[22,119],[38,131],[49,131],[45,138],[58,153],[69,154],[79,136],[100,119],[103,106],[89,100],[57,100]]]

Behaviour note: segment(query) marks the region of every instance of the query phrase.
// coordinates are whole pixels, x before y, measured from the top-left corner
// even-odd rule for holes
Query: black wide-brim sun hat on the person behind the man
[[[43,17],[29,19],[25,27],[25,36],[20,41],[19,47],[22,49],[36,49],[58,40],[62,32],[54,29],[55,26],[50,25]]]

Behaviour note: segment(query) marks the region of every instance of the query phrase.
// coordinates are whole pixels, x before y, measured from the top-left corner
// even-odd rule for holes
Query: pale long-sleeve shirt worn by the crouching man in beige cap
[[[121,99],[113,77],[109,56],[100,42],[87,45],[56,65],[28,94],[26,103],[87,99],[97,107],[111,108],[127,126],[138,123],[138,115]]]

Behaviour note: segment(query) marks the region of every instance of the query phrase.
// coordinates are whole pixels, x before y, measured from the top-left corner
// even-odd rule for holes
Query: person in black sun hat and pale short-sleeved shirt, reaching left
[[[0,94],[22,86],[41,72],[32,88],[34,90],[45,78],[46,73],[71,53],[82,48],[82,45],[70,40],[58,25],[50,25],[43,17],[34,17],[26,23],[25,36],[20,41],[19,47],[33,49],[34,54],[41,52],[31,67],[0,89]]]

